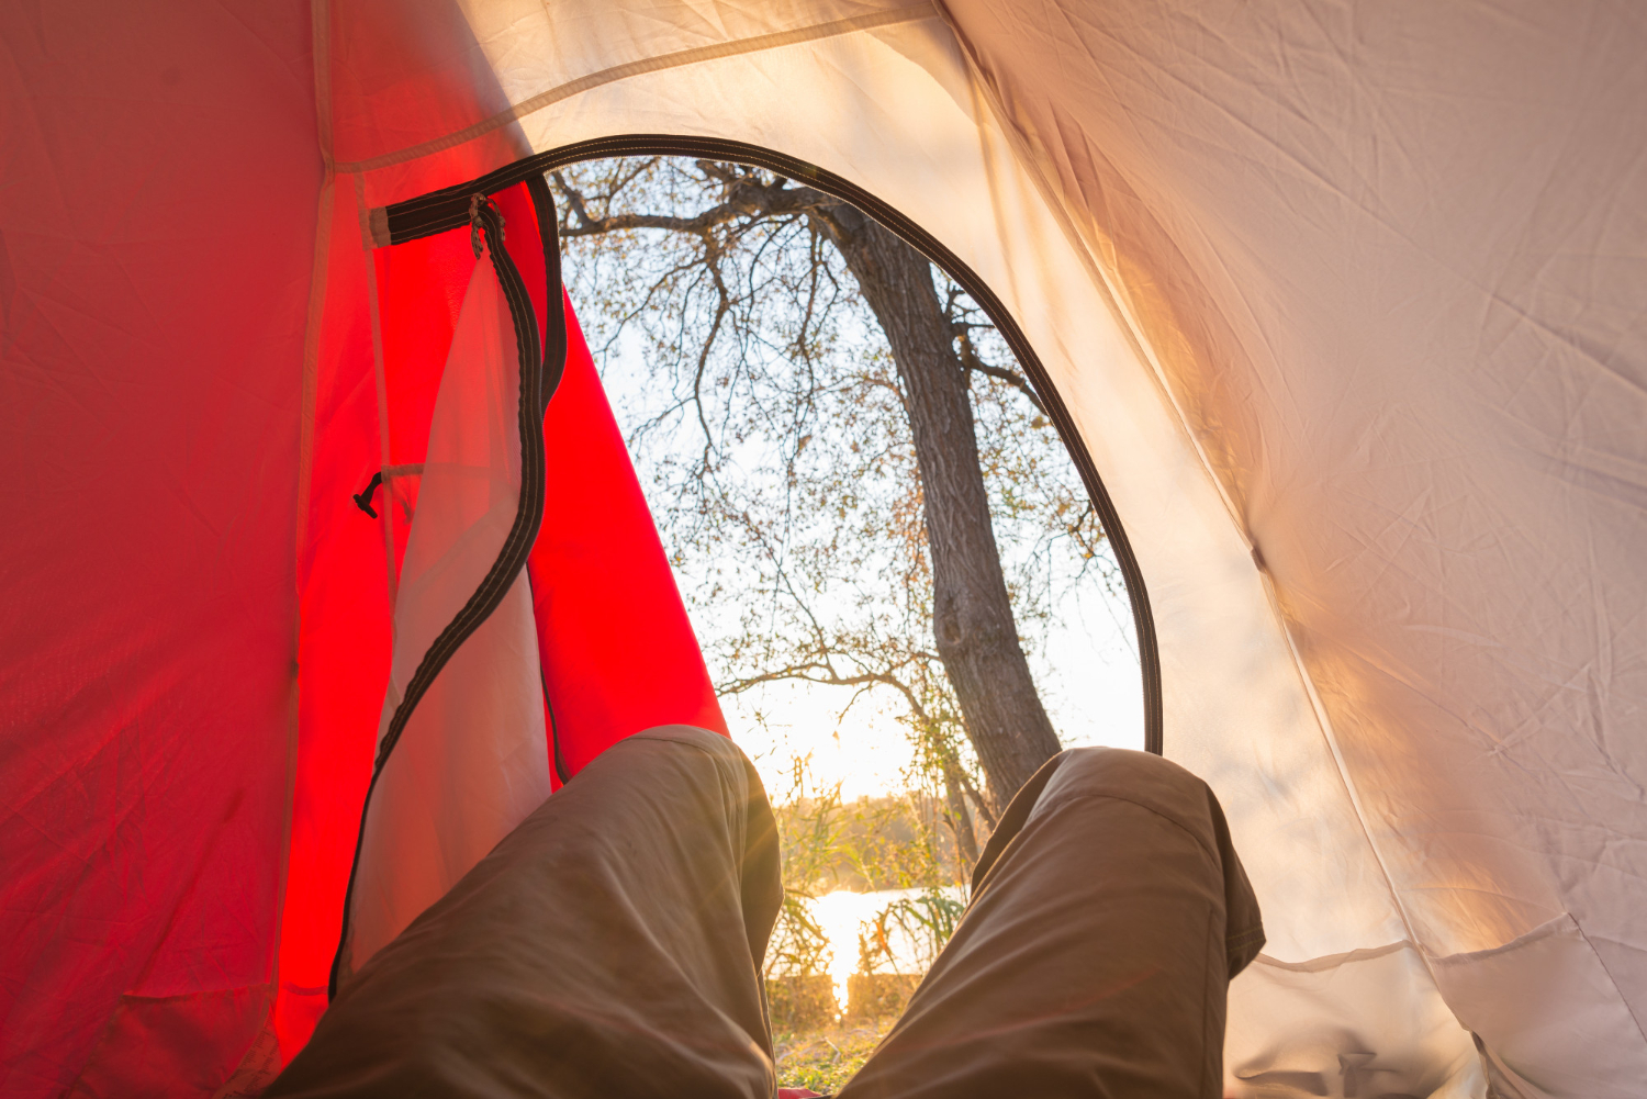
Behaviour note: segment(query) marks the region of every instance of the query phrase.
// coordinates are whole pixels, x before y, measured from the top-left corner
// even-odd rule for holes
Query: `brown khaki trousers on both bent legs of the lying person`
[[[268,1096],[769,1099],[777,837],[726,738],[619,741],[338,995]],[[1202,1099],[1263,944],[1204,783],[1075,748],[1013,799],[954,939],[842,1099]]]

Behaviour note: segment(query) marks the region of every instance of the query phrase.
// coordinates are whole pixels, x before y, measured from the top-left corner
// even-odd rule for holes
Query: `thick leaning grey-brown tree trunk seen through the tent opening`
[[[904,387],[932,554],[932,633],[967,735],[1005,807],[1051,756],[1057,733],[1018,641],[990,526],[967,371],[919,252],[851,206],[820,211],[886,331]]]

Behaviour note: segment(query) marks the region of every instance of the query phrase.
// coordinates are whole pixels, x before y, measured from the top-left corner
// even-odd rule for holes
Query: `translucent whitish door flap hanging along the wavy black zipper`
[[[395,595],[379,745],[423,654],[481,587],[514,522],[519,359],[509,303],[481,259],[435,397]],[[361,829],[339,982],[548,797],[540,676],[530,585],[519,575],[430,684],[377,779]]]

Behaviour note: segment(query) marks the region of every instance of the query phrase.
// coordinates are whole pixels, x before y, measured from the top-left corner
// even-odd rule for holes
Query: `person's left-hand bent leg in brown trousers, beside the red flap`
[[[744,755],[631,737],[367,961],[265,1094],[768,1099],[781,898]]]

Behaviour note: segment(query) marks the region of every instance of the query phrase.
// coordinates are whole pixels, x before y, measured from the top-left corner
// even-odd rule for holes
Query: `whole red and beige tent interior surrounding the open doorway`
[[[604,746],[728,732],[542,204],[657,152],[1010,333],[1265,911],[1225,1094],[1639,1094],[1647,10],[0,26],[5,1094],[255,1094]]]

